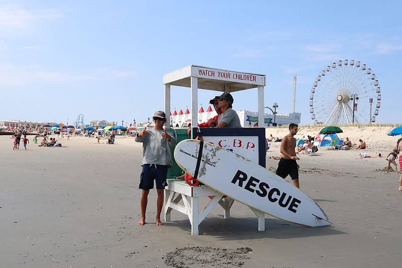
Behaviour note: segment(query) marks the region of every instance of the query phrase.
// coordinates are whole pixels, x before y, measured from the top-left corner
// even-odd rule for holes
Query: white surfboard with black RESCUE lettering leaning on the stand
[[[174,158],[194,176],[200,141],[183,140]],[[306,226],[329,225],[328,217],[308,195],[264,167],[234,152],[204,142],[197,180],[276,218]]]

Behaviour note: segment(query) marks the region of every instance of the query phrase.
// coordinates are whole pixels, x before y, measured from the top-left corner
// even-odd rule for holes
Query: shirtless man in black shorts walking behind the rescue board
[[[289,134],[283,137],[280,144],[280,160],[278,163],[278,168],[276,169],[276,174],[282,178],[290,175],[292,178],[293,185],[297,188],[299,187],[298,182],[298,168],[299,165],[296,163],[298,159],[294,148],[296,147],[296,140],[294,135],[298,131],[298,125],[294,123],[289,124]]]

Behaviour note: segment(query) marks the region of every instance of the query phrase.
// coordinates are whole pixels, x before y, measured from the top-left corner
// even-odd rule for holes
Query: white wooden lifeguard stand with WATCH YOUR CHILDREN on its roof
[[[223,92],[233,93],[251,88],[257,88],[258,128],[202,128],[201,135],[207,142],[218,144],[226,142],[225,148],[234,151],[258,164],[265,167],[265,128],[264,124],[264,86],[266,84],[265,74],[255,74],[248,72],[238,72],[231,70],[216,69],[198,65],[187,67],[169,72],[163,75],[165,85],[165,111],[167,122],[170,122],[170,92],[171,85],[185,86],[190,88],[191,96],[191,130],[192,137],[196,136],[197,115],[198,115],[198,88],[203,90],[216,91],[212,94],[219,96]],[[235,100],[236,102],[236,100]],[[168,126],[167,126],[168,127]],[[242,146],[239,144],[241,140]],[[180,196],[181,195],[181,196]],[[213,196],[214,198],[208,206],[198,215],[198,197]],[[233,199],[225,198],[223,195],[207,186],[191,187],[174,180],[168,181],[165,195],[165,221],[170,221],[170,211],[175,209],[187,214],[191,222],[191,233],[198,234],[198,224],[208,215],[208,213],[220,204],[225,210],[225,218],[230,217],[230,208]],[[178,201],[183,200],[184,206],[179,205]],[[250,207],[251,208],[251,207]],[[258,230],[265,230],[265,214],[253,208],[251,210],[258,217]]]

